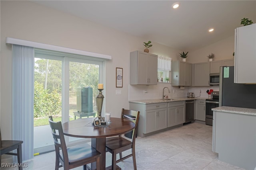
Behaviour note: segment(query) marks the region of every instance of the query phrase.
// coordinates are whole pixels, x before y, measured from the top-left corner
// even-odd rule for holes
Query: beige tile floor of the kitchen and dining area
[[[212,126],[200,123],[136,138],[136,162],[138,170],[244,170],[218,160],[218,154],[212,152]],[[55,152],[49,152],[34,156],[28,168],[23,169],[54,170],[54,164]],[[106,165],[110,164],[111,154],[106,153]],[[118,166],[132,170],[132,158],[119,162]],[[82,167],[74,170],[82,170]]]

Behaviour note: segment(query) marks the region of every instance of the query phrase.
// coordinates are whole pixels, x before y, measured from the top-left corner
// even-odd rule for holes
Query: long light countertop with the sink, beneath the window
[[[146,100],[130,100],[130,103],[140,103],[140,104],[154,104],[163,102],[178,102],[186,100],[206,100],[207,98],[171,98],[173,100],[163,100],[163,99],[146,99]]]

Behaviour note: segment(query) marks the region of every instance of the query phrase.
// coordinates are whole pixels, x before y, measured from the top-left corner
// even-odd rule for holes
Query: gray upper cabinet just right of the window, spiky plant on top
[[[172,86],[191,86],[191,72],[191,63],[172,61]]]

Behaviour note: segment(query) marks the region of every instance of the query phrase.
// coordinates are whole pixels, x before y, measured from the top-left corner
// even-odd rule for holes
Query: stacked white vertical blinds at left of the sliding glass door
[[[22,161],[34,149],[34,48],[12,45],[12,139],[23,141]],[[14,162],[17,162],[14,156]]]

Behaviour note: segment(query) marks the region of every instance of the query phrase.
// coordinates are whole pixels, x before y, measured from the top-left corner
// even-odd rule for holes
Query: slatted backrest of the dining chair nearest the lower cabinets
[[[121,119],[128,119],[132,121],[135,124],[135,128],[132,131],[132,137],[129,135],[125,135],[126,137],[132,139],[132,143],[135,143],[135,138],[137,134],[137,129],[138,129],[138,123],[139,123],[139,115],[140,111],[134,111],[134,110],[126,110],[122,109],[122,114],[121,114]]]

